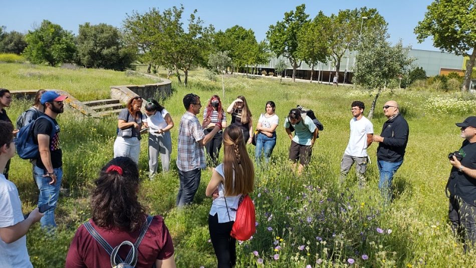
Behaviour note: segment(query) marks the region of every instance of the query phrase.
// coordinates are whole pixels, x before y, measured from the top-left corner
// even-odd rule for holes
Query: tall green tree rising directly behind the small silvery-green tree
[[[365,23],[363,17],[366,17]],[[360,32],[366,32],[374,27],[383,27],[387,23],[376,9],[341,10],[337,15],[332,14],[326,22],[331,60],[339,74],[340,62],[346,51],[353,51],[359,44]]]

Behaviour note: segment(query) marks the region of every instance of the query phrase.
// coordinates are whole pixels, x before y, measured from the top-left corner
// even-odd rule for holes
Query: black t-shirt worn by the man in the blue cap
[[[48,115],[46,115],[48,116]],[[50,117],[51,118],[51,117]],[[38,118],[35,121],[35,127],[33,129],[33,137],[35,144],[38,144],[38,134],[44,134],[50,136],[50,158],[51,164],[53,165],[54,169],[61,168],[63,166],[63,152],[61,151],[61,144],[60,144],[60,126],[56,119],[53,119],[55,122],[55,126],[53,126],[47,118]],[[53,127],[56,128],[55,134],[51,137],[51,132]],[[41,161],[41,156],[38,156],[37,159],[37,167],[45,169],[45,165]]]

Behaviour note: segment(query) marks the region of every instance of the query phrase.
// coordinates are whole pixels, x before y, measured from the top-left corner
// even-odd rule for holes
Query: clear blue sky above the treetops
[[[306,13],[313,18],[322,10],[326,15],[337,14],[340,9],[360,7],[375,8],[388,23],[390,40],[403,40],[405,45],[414,49],[438,50],[433,47],[429,38],[418,44],[413,29],[418,21],[423,20],[426,7],[430,0],[341,0],[341,1],[112,1],[112,0],[1,0],[0,25],[6,31],[26,33],[43,20],[61,25],[64,29],[78,33],[78,26],[85,22],[91,24],[106,23],[116,27],[122,26],[126,14],[132,11],[144,13],[149,8],[164,9],[179,6],[185,7],[185,18],[194,10],[205,25],[212,24],[216,30],[225,30],[234,25],[253,29],[258,41],[266,38],[266,31],[271,24],[282,20],[284,13],[294,10],[296,6],[306,4]],[[365,23],[365,22],[364,22]]]

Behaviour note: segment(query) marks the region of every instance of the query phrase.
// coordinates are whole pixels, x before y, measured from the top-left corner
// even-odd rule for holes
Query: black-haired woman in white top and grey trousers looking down
[[[149,127],[149,178],[157,173],[157,160],[160,154],[162,172],[169,171],[172,139],[170,129],[173,127],[172,117],[156,100],[145,104],[147,125]]]

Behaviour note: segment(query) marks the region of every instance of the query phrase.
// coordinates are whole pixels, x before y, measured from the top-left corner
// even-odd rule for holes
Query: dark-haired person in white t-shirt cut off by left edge
[[[13,125],[0,121],[0,170],[15,155]],[[0,174],[0,265],[2,267],[33,267],[27,250],[26,233],[43,213],[35,208],[28,218],[22,213],[22,202],[15,184]]]

